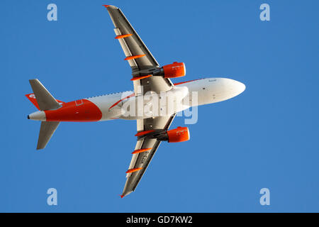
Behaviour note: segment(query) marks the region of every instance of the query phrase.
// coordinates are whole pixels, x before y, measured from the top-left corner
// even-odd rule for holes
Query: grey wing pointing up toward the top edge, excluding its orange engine
[[[115,26],[116,39],[118,39],[121,44],[125,54],[125,60],[128,61],[132,69],[135,96],[150,91],[159,93],[172,89],[174,84],[172,84],[170,79],[164,77],[147,77],[159,69],[157,60],[155,60],[150,50],[148,50],[140,39],[138,33],[136,33],[130,25],[130,22],[125,18],[121,9],[118,9],[116,6],[104,6],[106,6]],[[143,77],[145,78],[140,79]]]

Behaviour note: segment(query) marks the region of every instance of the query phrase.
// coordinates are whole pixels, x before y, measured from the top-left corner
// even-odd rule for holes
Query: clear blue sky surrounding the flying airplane
[[[318,1],[1,1],[0,211],[318,212]],[[57,4],[57,21],[47,5]],[[271,21],[260,21],[259,6]],[[191,140],[162,143],[121,199],[135,121],[61,123],[36,151],[24,94],[38,78],[57,99],[133,89],[102,4],[122,9],[159,64],[228,77],[240,96],[198,108]],[[175,118],[172,128],[184,126]],[[47,189],[57,189],[57,206]],[[270,206],[259,190],[270,190]]]

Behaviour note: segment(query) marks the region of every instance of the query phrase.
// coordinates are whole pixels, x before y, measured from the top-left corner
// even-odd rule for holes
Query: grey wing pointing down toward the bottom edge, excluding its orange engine
[[[175,114],[172,116],[159,116],[156,118],[137,120],[138,132],[157,129],[167,130],[174,117]],[[130,194],[136,189],[160,143],[161,141],[154,138],[138,138],[121,197]]]

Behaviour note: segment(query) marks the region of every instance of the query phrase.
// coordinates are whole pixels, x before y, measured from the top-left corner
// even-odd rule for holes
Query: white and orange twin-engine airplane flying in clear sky
[[[134,90],[64,102],[55,99],[38,79],[30,79],[33,93],[26,94],[26,97],[38,111],[29,114],[28,119],[41,121],[37,150],[45,148],[61,121],[136,121],[137,142],[126,172],[126,182],[121,194],[123,198],[135,191],[162,141],[178,143],[189,140],[188,127],[169,130],[177,113],[192,106],[233,98],[244,92],[245,84],[228,78],[194,79],[173,84],[172,78],[185,76],[184,63],[173,62],[161,67],[121,9],[111,5],[103,6],[115,26],[115,38],[121,44],[124,60],[131,67]],[[145,109],[148,111],[144,111]],[[153,109],[159,111],[152,111]],[[130,111],[135,113],[128,114]],[[142,113],[136,114],[136,111]]]

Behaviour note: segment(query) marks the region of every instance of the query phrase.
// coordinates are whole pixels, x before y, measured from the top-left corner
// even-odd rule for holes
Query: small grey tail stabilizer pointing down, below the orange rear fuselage
[[[43,121],[40,126],[37,150],[45,148],[60,122]]]

